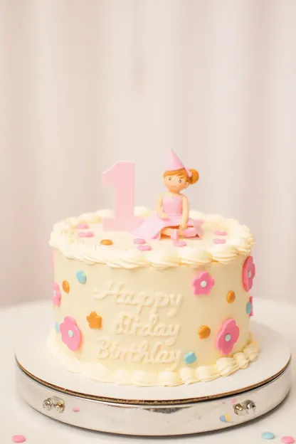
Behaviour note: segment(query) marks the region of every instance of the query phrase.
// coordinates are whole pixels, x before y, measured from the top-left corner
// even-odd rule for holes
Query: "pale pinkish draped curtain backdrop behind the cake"
[[[296,2],[0,0],[1,304],[50,297],[54,222],[112,203],[137,164],[153,206],[168,147],[191,207],[252,229],[254,297],[295,302]]]

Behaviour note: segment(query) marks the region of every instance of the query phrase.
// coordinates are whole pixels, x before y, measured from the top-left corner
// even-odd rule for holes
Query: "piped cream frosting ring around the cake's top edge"
[[[134,213],[137,216],[147,217],[152,211],[145,207],[136,207]],[[241,225],[236,219],[223,218],[220,215],[205,215],[197,211],[191,211],[192,218],[203,219],[204,223],[218,223],[226,229],[230,235],[225,243],[213,243],[206,248],[157,248],[147,251],[139,251],[132,248],[120,249],[116,245],[101,245],[97,242],[86,242],[84,238],[78,238],[74,233],[75,227],[83,223],[100,223],[102,218],[111,215],[109,210],[100,210],[93,213],[84,213],[78,217],[67,218],[53,226],[49,244],[60,250],[66,258],[81,260],[89,264],[105,264],[111,268],[140,268],[152,266],[164,269],[187,265],[197,268],[212,261],[227,264],[231,263],[238,255],[248,256],[254,245],[252,233],[248,227]],[[103,233],[103,231],[102,231]],[[197,241],[198,242],[198,241]],[[160,243],[160,242],[159,242]]]

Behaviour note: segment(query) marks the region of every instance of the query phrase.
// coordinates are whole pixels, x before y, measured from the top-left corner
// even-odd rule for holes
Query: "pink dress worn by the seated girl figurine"
[[[144,219],[139,228],[132,232],[133,236],[144,239],[158,239],[161,231],[166,227],[178,227],[182,222],[183,196],[170,196],[165,194],[162,201],[162,208],[168,218],[160,218],[156,213]],[[188,227],[194,226],[199,237],[203,234],[202,222],[189,218]]]

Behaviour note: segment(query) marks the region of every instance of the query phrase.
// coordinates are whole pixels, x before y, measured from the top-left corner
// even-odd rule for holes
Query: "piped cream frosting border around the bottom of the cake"
[[[48,349],[51,354],[66,370],[80,374],[94,381],[115,383],[119,385],[137,386],[178,386],[180,384],[194,384],[196,382],[213,381],[221,376],[229,376],[238,369],[246,369],[250,362],[255,361],[259,353],[258,343],[250,335],[250,342],[242,351],[233,354],[232,357],[222,357],[216,364],[210,366],[199,366],[196,369],[182,367],[179,371],[126,371],[107,369],[98,362],[86,363],[75,356],[63,354],[56,343],[56,332],[54,329],[48,336]]]

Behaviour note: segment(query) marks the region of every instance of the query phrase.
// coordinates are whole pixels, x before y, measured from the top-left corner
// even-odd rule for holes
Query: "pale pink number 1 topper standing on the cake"
[[[102,173],[102,184],[115,186],[114,217],[103,219],[104,230],[131,231],[142,220],[134,216],[134,162],[120,161]]]

